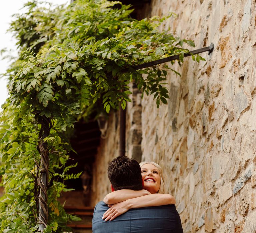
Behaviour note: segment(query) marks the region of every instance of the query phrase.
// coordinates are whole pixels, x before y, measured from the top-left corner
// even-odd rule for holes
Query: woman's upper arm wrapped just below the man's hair
[[[134,191],[131,189],[121,189],[121,190],[117,190],[109,193],[104,197],[103,201],[107,205],[113,205],[118,202],[122,202],[131,198],[140,197],[148,194],[150,194],[150,192],[145,189],[142,189],[139,191]]]

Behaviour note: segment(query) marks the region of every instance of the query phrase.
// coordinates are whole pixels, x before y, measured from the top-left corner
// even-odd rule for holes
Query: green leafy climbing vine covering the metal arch
[[[120,9],[114,7],[120,5]],[[69,128],[78,117],[96,109],[124,109],[131,101],[129,84],[135,82],[157,107],[167,104],[165,65],[133,69],[133,65],[179,55],[183,44],[167,31],[159,31],[158,17],[135,20],[130,6],[107,0],[76,0],[52,8],[36,1],[25,5],[27,12],[16,15],[11,24],[20,57],[7,72],[10,96],[1,115],[1,173],[5,195],[0,203],[1,232],[35,232],[38,228],[38,172],[40,154],[39,116],[50,119],[50,134],[44,138],[49,152],[49,221],[44,232],[65,230],[69,220],[57,201],[66,179],[78,178],[65,167],[69,158]],[[170,15],[171,16],[171,15]],[[168,17],[170,17],[168,16]],[[198,55],[192,57],[199,62]],[[174,61],[171,62],[174,64]],[[125,70],[124,70],[125,69]]]

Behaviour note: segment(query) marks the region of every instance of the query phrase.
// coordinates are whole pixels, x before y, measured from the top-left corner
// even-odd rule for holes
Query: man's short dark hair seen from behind
[[[119,156],[109,163],[108,178],[115,190],[143,188],[140,165],[135,159],[127,156]]]

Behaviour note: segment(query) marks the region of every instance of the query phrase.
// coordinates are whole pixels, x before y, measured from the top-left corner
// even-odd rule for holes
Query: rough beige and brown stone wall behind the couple
[[[162,29],[215,49],[202,54],[206,62],[174,66],[181,77],[169,74],[168,105],[133,97],[126,154],[140,159],[142,150],[142,161],[163,167],[184,232],[256,232],[256,1],[152,0],[144,12],[175,12]],[[94,166],[95,203],[110,191],[106,168],[119,155],[114,115],[110,122]]]

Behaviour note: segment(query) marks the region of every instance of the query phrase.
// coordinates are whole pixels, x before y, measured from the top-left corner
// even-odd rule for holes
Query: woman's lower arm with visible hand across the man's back
[[[150,194],[146,196],[136,197],[128,199],[126,201],[116,203],[114,205],[109,205],[109,209],[103,214],[102,219],[105,221],[111,221],[117,216],[127,212],[132,208],[141,208],[149,206],[160,206],[175,204],[175,198],[170,194]]]

